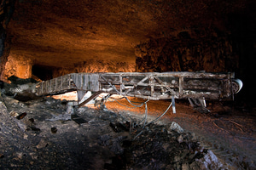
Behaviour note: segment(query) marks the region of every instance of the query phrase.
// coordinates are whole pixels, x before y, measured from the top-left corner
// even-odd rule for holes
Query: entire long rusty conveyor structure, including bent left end
[[[204,99],[233,99],[242,87],[235,74],[209,72],[119,72],[72,73],[38,82],[37,96],[78,92],[79,105],[84,105],[101,93],[119,94],[143,99],[189,99],[191,105]],[[84,94],[92,95],[84,100]],[[192,101],[191,99],[194,99]]]

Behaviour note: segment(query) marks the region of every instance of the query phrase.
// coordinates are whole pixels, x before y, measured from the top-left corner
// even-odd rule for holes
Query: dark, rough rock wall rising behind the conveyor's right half
[[[135,49],[137,71],[236,71],[239,57],[227,37],[200,37],[181,31],[177,37],[151,39]]]

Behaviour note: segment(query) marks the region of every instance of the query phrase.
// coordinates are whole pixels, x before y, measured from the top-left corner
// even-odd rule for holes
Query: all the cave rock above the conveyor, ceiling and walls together
[[[3,2],[2,80],[80,71],[254,71],[255,1]]]

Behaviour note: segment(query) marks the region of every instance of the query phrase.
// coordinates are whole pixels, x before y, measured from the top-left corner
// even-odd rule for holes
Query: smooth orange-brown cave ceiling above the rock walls
[[[20,0],[7,29],[11,53],[34,65],[72,67],[87,59],[135,62],[134,48],[192,27],[226,29],[245,1]]]

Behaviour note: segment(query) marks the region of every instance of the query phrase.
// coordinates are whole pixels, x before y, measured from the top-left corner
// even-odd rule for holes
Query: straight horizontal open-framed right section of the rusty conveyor
[[[143,99],[233,99],[233,73],[105,73],[102,91]]]

